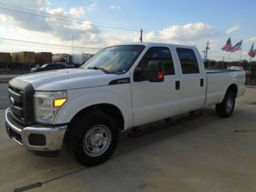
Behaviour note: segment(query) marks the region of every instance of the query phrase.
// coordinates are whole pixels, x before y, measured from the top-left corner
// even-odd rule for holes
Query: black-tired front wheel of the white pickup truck
[[[109,136],[110,141],[108,142],[108,144],[105,144],[105,147],[104,144],[102,144],[104,141],[101,141],[99,138],[107,136],[104,136],[104,134],[102,134],[102,136],[98,136],[95,133],[93,134],[93,132],[97,131],[96,129],[98,127],[103,127],[103,129],[105,130],[108,129],[105,135],[107,135],[107,133],[108,135],[111,135]],[[93,148],[96,148],[96,146],[92,144],[95,140],[95,137],[97,141],[102,142],[98,145],[100,147],[103,146],[102,148],[104,148],[104,152],[98,155],[95,155],[95,152],[93,152]],[[66,137],[66,147],[68,153],[72,157],[74,157],[80,164],[84,166],[96,166],[111,157],[118,144],[118,138],[119,129],[116,121],[111,116],[109,116],[109,114],[92,110],[79,115],[70,123]],[[102,148],[100,150],[102,150]]]

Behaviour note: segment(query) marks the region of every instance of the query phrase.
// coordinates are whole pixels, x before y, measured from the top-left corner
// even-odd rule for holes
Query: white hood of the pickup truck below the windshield
[[[117,74],[94,69],[59,69],[17,76],[15,81],[32,83],[35,91],[60,91],[108,85]]]

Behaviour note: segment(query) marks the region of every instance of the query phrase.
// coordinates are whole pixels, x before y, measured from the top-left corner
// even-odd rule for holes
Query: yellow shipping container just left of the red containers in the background
[[[13,64],[35,64],[35,52],[22,51],[12,53]]]

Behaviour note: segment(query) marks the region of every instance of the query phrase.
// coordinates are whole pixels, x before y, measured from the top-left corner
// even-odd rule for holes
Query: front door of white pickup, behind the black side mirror
[[[149,62],[154,60],[164,64],[163,82],[138,81],[134,78],[138,74],[131,74],[134,127],[169,118],[179,111],[179,71],[169,47],[155,46],[147,49],[131,71],[136,71],[137,67],[147,68]]]

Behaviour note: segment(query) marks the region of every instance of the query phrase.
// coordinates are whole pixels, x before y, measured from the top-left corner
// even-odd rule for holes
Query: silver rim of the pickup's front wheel
[[[84,152],[91,157],[102,155],[111,143],[111,132],[105,125],[95,125],[84,135]]]

